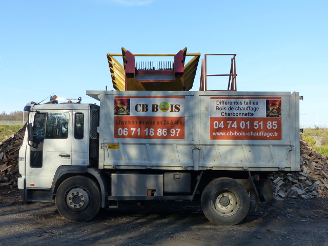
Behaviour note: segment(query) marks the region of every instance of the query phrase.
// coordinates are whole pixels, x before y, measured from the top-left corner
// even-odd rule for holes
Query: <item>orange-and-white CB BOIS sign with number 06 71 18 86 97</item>
[[[114,100],[114,138],[185,138],[184,96],[131,96]]]

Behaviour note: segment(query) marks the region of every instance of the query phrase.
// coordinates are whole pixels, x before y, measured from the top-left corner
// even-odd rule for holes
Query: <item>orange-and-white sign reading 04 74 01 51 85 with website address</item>
[[[210,97],[210,139],[281,140],[281,97]]]

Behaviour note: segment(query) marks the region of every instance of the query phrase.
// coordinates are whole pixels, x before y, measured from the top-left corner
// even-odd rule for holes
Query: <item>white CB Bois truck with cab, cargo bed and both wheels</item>
[[[72,221],[121,200],[201,200],[240,222],[248,192],[271,202],[272,172],[299,171],[296,92],[87,91],[92,104],[34,104],[19,151],[25,201]]]

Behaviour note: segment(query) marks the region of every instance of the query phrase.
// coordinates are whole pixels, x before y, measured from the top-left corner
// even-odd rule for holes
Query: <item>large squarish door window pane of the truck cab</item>
[[[46,138],[67,138],[68,120],[68,113],[48,113]]]

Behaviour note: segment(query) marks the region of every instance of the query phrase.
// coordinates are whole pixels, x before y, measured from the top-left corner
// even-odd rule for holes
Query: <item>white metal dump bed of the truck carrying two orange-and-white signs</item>
[[[99,168],[298,171],[296,92],[87,91]]]

